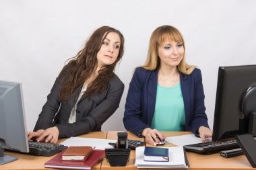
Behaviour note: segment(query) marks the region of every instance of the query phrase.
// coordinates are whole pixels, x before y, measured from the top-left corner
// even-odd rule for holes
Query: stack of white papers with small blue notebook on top
[[[187,168],[183,146],[136,148],[135,166],[137,168]]]

